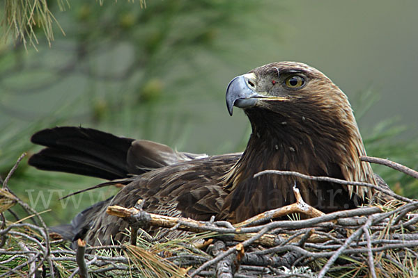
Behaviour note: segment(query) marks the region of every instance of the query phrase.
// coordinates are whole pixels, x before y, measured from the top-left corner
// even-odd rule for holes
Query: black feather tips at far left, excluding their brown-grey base
[[[35,133],[31,141],[47,148],[29,158],[40,170],[102,179],[127,177],[127,153],[134,141],[95,129],[63,126]]]

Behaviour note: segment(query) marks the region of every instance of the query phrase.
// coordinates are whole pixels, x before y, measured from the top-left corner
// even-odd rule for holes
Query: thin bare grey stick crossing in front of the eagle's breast
[[[345,186],[367,186],[370,188],[374,188],[376,190],[380,190],[380,192],[385,193],[389,196],[392,196],[396,199],[399,199],[403,202],[408,202],[408,203],[412,202],[412,200],[407,197],[397,195],[392,190],[387,190],[386,188],[383,188],[382,186],[376,186],[376,184],[373,184],[373,183],[366,183],[362,181],[346,181],[344,179],[336,179],[332,177],[316,177],[316,176],[309,176],[307,174],[302,174],[300,172],[295,172],[295,171],[279,171],[279,170],[264,170],[264,171],[258,172],[257,174],[254,174],[254,177],[256,178],[263,174],[279,174],[279,175],[295,176],[295,177],[300,177],[301,179],[309,179],[311,181],[328,181],[328,182],[343,184]]]

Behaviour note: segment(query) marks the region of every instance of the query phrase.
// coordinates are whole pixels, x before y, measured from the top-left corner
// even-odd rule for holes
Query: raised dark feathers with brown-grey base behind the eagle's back
[[[31,141],[46,148],[33,154],[29,165],[40,170],[109,180],[206,157],[206,154],[176,152],[166,145],[148,140],[118,137],[75,126],[38,131]]]

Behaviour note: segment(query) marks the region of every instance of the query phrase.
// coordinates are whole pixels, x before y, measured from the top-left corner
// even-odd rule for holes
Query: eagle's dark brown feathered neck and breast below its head
[[[376,184],[369,163],[359,160],[359,156],[366,152],[351,111],[343,122],[339,122],[341,117],[318,119],[297,113],[300,111],[286,111],[285,114],[247,109],[245,112],[252,133],[242,157],[224,176],[224,188],[229,192],[224,210],[229,212],[230,221],[241,221],[256,213],[295,202],[291,190],[295,183],[305,202],[323,208],[323,211],[329,211],[332,204],[328,204],[328,193],[318,190],[331,190],[330,196],[334,194],[331,197],[336,196],[336,190],[341,191],[338,193],[341,197],[338,195],[335,201],[341,203],[341,208],[330,208],[330,211],[347,208],[342,203],[352,202],[353,193],[362,200],[371,197],[371,190],[363,187],[347,188],[291,176],[254,178],[254,174],[263,170],[289,170]],[[240,207],[247,208],[245,213]]]

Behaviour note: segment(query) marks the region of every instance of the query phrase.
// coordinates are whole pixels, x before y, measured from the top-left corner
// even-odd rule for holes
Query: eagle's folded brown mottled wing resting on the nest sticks
[[[109,205],[134,206],[144,200],[144,211],[195,220],[209,220],[219,214],[228,193],[222,178],[240,158],[240,154],[226,154],[195,159],[162,167],[137,177],[125,186]],[[109,240],[125,240],[127,223],[108,215],[105,209],[98,213],[88,231],[90,244],[109,244]]]

